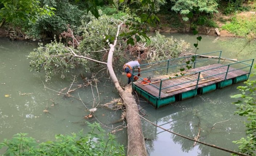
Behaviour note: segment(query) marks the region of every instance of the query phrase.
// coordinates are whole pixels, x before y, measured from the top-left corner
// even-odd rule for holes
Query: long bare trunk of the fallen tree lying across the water
[[[144,135],[141,127],[141,120],[139,115],[139,109],[135,99],[132,96],[131,85],[129,88],[123,90],[121,88],[115,72],[112,66],[113,53],[115,51],[115,45],[117,37],[119,35],[120,26],[118,25],[116,39],[113,45],[110,45],[110,51],[108,52],[107,67],[110,73],[111,79],[115,84],[117,91],[124,100],[124,106],[126,108],[126,121],[127,121],[127,134],[128,134],[128,156],[147,156],[146,146],[144,141]]]

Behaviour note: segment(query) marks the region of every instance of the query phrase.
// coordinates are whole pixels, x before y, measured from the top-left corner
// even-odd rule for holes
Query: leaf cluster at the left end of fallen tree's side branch
[[[43,70],[46,81],[57,74],[64,78],[70,72],[70,69],[75,67],[83,67],[85,72],[88,71],[87,60],[70,57],[70,51],[63,47],[64,45],[57,41],[51,42],[46,46],[40,43],[39,47],[30,52],[28,56],[31,59],[29,62],[31,71],[41,72]]]

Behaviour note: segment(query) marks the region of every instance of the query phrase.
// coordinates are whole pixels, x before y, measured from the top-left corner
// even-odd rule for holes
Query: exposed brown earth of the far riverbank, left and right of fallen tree
[[[175,16],[173,17],[172,14],[170,16],[166,14],[158,14],[160,18],[160,24],[154,27],[150,27],[150,32],[160,31],[160,33],[185,33],[191,34],[193,32],[193,24],[190,22],[185,22],[182,20],[182,17]],[[241,35],[236,35],[223,29],[225,25],[231,24],[232,20],[239,18],[242,19],[244,22],[248,20],[252,20],[253,17],[256,17],[256,12],[240,12],[237,14],[226,16],[222,13],[215,13],[214,14],[214,22],[216,24],[215,27],[209,27],[205,25],[197,26],[199,34],[203,35],[212,35],[218,36],[216,33],[216,28],[219,30],[219,36],[221,37],[244,37]],[[15,33],[14,33],[15,34]],[[251,34],[255,36],[255,34]],[[8,37],[11,40],[28,40],[26,35],[13,35],[5,30],[3,27],[0,28],[0,37]]]

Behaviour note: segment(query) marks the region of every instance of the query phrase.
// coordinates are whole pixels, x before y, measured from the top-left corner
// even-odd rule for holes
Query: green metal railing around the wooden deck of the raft
[[[207,58],[207,59],[201,59],[201,60],[198,60],[197,57],[200,56],[200,55],[207,55],[207,54],[213,54],[213,53],[218,53],[219,52],[219,56],[215,56],[213,58]],[[160,67],[160,68],[157,68],[157,69],[151,69],[151,70],[148,70],[148,71],[144,71],[144,72],[135,72],[135,67],[133,67],[132,69],[132,82],[133,82],[133,76],[138,74],[138,73],[147,73],[147,72],[152,72],[152,71],[157,71],[157,70],[162,70],[162,69],[166,69],[166,74],[169,72],[169,69],[170,68],[174,68],[174,67],[182,67],[184,65],[190,65],[191,66],[194,64],[193,68],[195,68],[195,64],[198,63],[198,62],[203,62],[203,61],[207,61],[207,60],[211,60],[211,59],[217,59],[218,60],[218,63],[220,62],[220,58],[224,58],[224,57],[221,57],[221,54],[222,54],[222,51],[214,51],[214,52],[208,52],[208,53],[205,53],[205,54],[197,54],[197,55],[190,55],[190,56],[185,56],[185,57],[181,57],[181,58],[174,58],[174,59],[169,59],[169,60],[164,60],[164,61],[159,61],[159,62],[154,62],[154,63],[148,63],[148,64],[142,64],[140,65],[140,68],[143,67],[143,66],[148,66],[148,65],[153,65],[153,64],[162,64],[162,63],[165,63],[167,62],[167,66],[166,67]],[[194,57],[194,62],[190,62],[189,64],[187,63],[182,63],[182,64],[177,64],[177,65],[173,65],[173,66],[170,66],[170,61],[173,61],[173,60],[181,60],[181,59],[184,59],[184,58],[192,58]],[[179,75],[179,76],[176,76],[176,77],[172,77],[172,79],[176,79],[176,78],[179,78],[179,77],[182,77],[182,76],[187,76],[187,75],[193,75],[193,74],[198,74],[198,78],[197,79],[194,79],[194,80],[190,80],[190,81],[186,81],[184,83],[179,83],[179,84],[175,84],[175,85],[170,85],[168,87],[162,87],[162,82],[163,81],[166,81],[170,78],[167,78],[167,79],[160,79],[160,86],[157,87],[156,85],[152,84],[152,83],[149,83],[148,85],[151,85],[153,86],[154,88],[157,88],[159,89],[159,94],[158,94],[158,98],[161,98],[161,90],[162,89],[166,89],[166,88],[170,88],[170,87],[175,87],[177,85],[181,85],[181,84],[185,84],[185,83],[190,83],[190,82],[194,82],[194,81],[197,81],[197,84],[195,85],[195,88],[197,89],[198,88],[198,84],[199,84],[199,80],[201,79],[206,79],[208,77],[213,77],[213,76],[216,76],[216,75],[221,75],[221,74],[225,74],[225,78],[224,80],[227,79],[227,75],[228,75],[228,72],[232,72],[232,71],[236,71],[236,70],[239,70],[239,69],[244,69],[244,68],[248,68],[249,67],[249,71],[245,74],[248,74],[247,76],[247,80],[249,78],[249,75],[251,73],[251,69],[252,69],[252,66],[253,66],[253,62],[254,62],[254,59],[248,59],[248,60],[244,60],[244,61],[236,61],[236,60],[232,60],[232,59],[228,59],[228,58],[224,58],[226,60],[229,60],[229,61],[232,61],[234,63],[231,63],[231,64],[227,64],[227,65],[223,65],[223,66],[218,66],[218,67],[213,67],[213,68],[209,68],[209,69],[205,69],[205,70],[201,70],[201,71],[197,71],[197,72],[192,72],[192,73],[189,73],[189,74],[184,74],[184,75]],[[246,62],[251,62],[251,63],[246,63]],[[240,67],[238,69],[233,69],[233,70],[229,70],[230,69],[230,66],[232,65],[235,65],[235,64],[241,64],[241,65],[245,65],[245,67]],[[203,77],[203,78],[200,78],[200,75],[201,75],[201,72],[205,72],[205,71],[208,71],[208,70],[212,70],[212,69],[217,69],[217,68],[221,68],[221,67],[227,67],[227,71],[225,72],[222,72],[222,73],[217,73],[215,75],[210,75],[210,76],[207,76],[207,77]],[[142,81],[145,81],[143,80],[141,77],[139,77],[140,80]],[[148,83],[148,82],[147,82]],[[132,83],[133,85],[133,83]]]

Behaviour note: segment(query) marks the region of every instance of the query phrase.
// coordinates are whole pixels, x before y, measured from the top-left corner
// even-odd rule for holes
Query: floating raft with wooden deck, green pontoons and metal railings
[[[215,56],[218,53],[219,56]],[[200,57],[209,54],[214,57]],[[154,107],[159,108],[174,101],[185,100],[197,94],[205,94],[248,80],[254,59],[239,62],[223,58],[221,54],[222,51],[215,51],[142,64],[140,68],[150,68],[140,72],[142,76],[132,83],[132,89]],[[186,66],[192,68],[188,69]],[[137,73],[133,68],[132,78]],[[145,81],[143,77],[149,76],[151,83],[142,84],[141,82]]]

